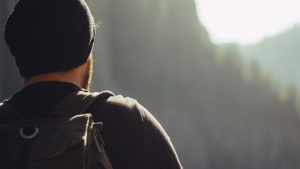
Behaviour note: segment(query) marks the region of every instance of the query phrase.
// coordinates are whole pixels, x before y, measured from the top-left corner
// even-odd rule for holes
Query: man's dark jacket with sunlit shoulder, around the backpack
[[[24,87],[8,103],[28,119],[47,116],[54,105],[72,92],[82,90],[71,83],[41,82]],[[170,138],[157,120],[136,100],[111,96],[96,99],[86,112],[103,122],[101,135],[115,169],[181,168]]]

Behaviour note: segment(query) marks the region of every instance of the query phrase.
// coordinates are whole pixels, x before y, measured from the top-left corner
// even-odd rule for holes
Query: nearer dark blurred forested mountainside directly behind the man
[[[236,46],[211,43],[193,0],[87,2],[101,22],[92,90],[136,98],[161,122],[184,168],[300,167],[297,96],[281,99],[259,64]]]

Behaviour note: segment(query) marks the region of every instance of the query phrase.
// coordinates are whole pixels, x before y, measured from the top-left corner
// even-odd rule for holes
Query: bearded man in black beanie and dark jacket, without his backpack
[[[39,119],[67,95],[87,92],[94,27],[83,0],[20,0],[7,20],[5,40],[24,88],[7,103],[27,119]],[[101,101],[87,112],[104,124],[101,134],[114,168],[181,168],[169,137],[137,101],[122,96]]]

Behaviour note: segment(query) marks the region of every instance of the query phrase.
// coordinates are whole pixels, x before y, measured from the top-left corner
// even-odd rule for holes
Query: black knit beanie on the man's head
[[[78,67],[87,61],[94,38],[94,19],[84,0],[19,0],[5,26],[23,77]]]

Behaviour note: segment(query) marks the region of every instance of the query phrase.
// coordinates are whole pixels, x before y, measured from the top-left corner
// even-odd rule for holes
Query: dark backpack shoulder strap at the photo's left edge
[[[0,124],[25,120],[25,118],[6,101],[0,103],[0,117]]]

